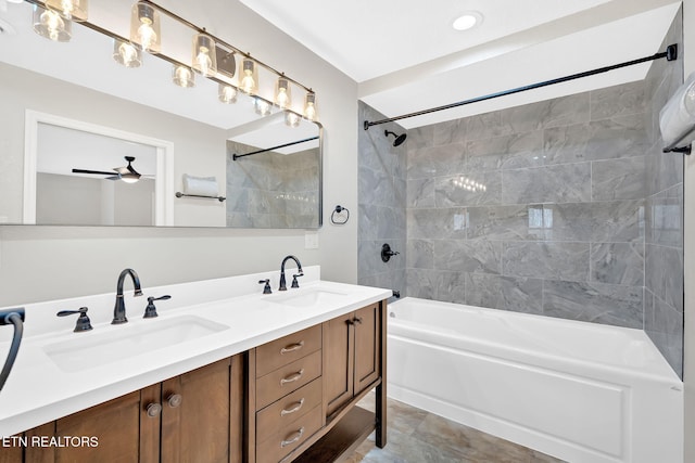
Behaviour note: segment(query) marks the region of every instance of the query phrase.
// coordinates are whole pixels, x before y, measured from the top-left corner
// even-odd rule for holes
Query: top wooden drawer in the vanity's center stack
[[[256,377],[261,377],[321,348],[321,325],[256,347]]]

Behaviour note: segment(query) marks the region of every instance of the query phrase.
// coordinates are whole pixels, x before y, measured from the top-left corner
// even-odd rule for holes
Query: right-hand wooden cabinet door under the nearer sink
[[[230,359],[162,383],[162,459],[229,461]]]

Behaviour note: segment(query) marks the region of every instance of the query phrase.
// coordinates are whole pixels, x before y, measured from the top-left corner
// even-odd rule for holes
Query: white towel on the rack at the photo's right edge
[[[680,140],[685,133],[695,130],[695,73],[691,74],[659,113],[661,138],[666,145],[675,142],[684,146],[695,139],[695,133]]]

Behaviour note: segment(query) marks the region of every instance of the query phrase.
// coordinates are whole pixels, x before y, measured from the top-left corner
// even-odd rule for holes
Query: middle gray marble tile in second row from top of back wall
[[[542,166],[543,132],[536,130],[470,141],[466,144],[466,167],[471,175],[484,170]]]

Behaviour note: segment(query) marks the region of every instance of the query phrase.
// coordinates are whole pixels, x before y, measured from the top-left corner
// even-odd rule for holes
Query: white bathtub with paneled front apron
[[[681,463],[683,383],[640,330],[406,297],[389,396],[569,462]]]

